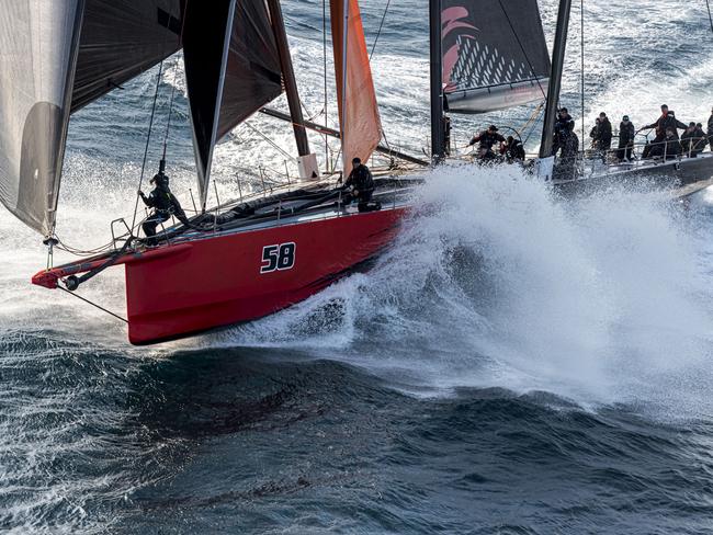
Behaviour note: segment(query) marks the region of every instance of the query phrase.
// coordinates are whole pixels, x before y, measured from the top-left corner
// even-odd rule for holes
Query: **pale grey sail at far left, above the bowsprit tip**
[[[82,0],[0,10],[0,202],[43,235],[55,225]]]

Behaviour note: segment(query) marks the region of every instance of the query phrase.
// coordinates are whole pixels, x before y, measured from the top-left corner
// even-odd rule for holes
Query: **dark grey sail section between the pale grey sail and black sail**
[[[186,0],[84,0],[72,112],[180,48]]]

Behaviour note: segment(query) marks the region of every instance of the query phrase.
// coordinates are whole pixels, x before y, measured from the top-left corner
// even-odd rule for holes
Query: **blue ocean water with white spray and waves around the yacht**
[[[283,4],[305,107],[324,121],[321,2]],[[371,45],[385,2],[362,4]],[[556,5],[541,4],[552,38]],[[578,9],[563,103],[579,121]],[[393,0],[374,53],[386,134],[414,153],[429,135],[427,21],[426,1]],[[703,2],[587,2],[585,36],[587,126],[600,111],[649,123],[663,102],[705,122]],[[190,206],[176,65],[149,166],[176,88],[169,172]],[[100,246],[131,216],[156,75],[75,118],[66,242]],[[454,118],[456,140],[531,113]],[[238,181],[260,187],[259,166],[283,180],[282,150],[294,153],[284,125],[239,127],[217,149],[220,198]],[[564,203],[512,169],[428,179],[415,203],[431,208],[369,273],[260,321],[142,349],[111,317],[32,287],[44,248],[0,213],[0,531],[711,533],[713,193],[684,208],[622,184]],[[123,314],[121,270],[82,292]]]

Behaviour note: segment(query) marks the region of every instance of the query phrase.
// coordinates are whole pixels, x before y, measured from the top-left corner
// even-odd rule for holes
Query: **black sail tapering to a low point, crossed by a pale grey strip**
[[[282,93],[280,56],[264,0],[186,7],[183,57],[201,206],[215,144]]]

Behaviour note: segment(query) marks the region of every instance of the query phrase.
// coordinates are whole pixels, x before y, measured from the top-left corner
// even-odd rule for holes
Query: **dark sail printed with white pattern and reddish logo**
[[[450,112],[486,113],[543,100],[550,55],[536,0],[442,0]]]

